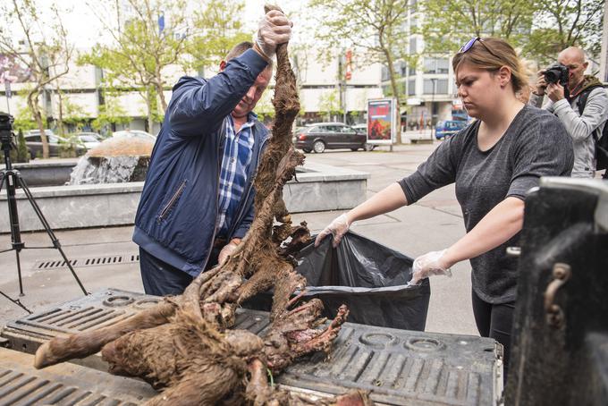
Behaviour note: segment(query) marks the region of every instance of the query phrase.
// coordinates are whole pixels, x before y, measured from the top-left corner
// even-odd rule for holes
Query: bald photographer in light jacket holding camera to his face
[[[546,110],[555,114],[572,137],[574,167],[572,177],[593,178],[595,176],[594,131],[602,133],[608,119],[608,94],[595,76],[586,75],[588,62],[583,50],[578,47],[564,49],[557,57],[557,65],[538,72],[536,91],[529,104],[540,107],[545,94],[549,103]],[[569,91],[564,88],[567,86]],[[578,102],[588,92],[582,114]],[[605,177],[605,174],[604,174]]]

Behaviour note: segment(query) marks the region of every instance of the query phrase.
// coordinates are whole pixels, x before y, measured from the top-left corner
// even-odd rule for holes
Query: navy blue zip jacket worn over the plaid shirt
[[[215,77],[185,76],[173,87],[165,123],[150,157],[133,241],[192,276],[207,265],[215,240],[224,121],[265,68],[266,61],[249,49]],[[229,240],[242,238],[253,221],[252,182],[268,131],[258,122],[253,134],[248,184]]]

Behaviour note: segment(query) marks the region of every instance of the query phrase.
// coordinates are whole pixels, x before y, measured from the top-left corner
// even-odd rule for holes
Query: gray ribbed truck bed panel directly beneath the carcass
[[[1,335],[9,348],[33,353],[54,336],[110,326],[158,300],[107,289],[13,321]],[[236,328],[264,334],[267,326],[266,312],[237,312]],[[502,392],[501,359],[502,347],[487,338],[346,323],[328,359],[301,359],[275,382],[321,393],[367,389],[385,404],[486,406]],[[106,370],[99,354],[76,362]]]

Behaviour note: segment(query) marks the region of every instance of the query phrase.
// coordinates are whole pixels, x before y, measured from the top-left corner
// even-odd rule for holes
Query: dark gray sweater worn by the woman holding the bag
[[[479,122],[443,141],[418,170],[399,183],[412,204],[429,192],[456,183],[467,233],[508,197],[525,199],[541,176],[570,176],[572,140],[562,123],[544,110],[524,106],[494,147],[477,147]],[[488,303],[515,300],[517,258],[507,247],[519,245],[519,233],[494,250],[471,258],[473,290]]]

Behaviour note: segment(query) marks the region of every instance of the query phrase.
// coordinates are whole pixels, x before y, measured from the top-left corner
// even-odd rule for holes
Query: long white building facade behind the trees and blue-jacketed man
[[[357,55],[352,56],[348,80],[344,77],[346,67],[343,55],[318,57],[316,50],[297,50],[292,53],[292,65],[296,72],[302,114],[299,123],[319,121],[346,121],[348,123],[365,122],[368,98],[382,97],[380,88],[381,66],[378,63],[359,63]],[[213,76],[215,70],[209,69],[205,75]],[[184,74],[197,75],[196,72],[185,72],[181,66],[165,69],[165,100],[170,100],[173,84]],[[111,94],[102,86],[104,71],[96,66],[70,63],[69,72],[47,85],[40,97],[40,106],[46,113],[50,128],[56,125],[61,114],[67,122],[68,131],[74,131],[76,125],[82,130],[91,130],[91,123],[103,112],[102,106],[113,106],[114,114],[120,112],[126,123],[113,124],[106,129],[120,131],[124,129],[143,130],[156,134],[161,123],[148,126],[148,110],[140,89],[118,89]],[[27,113],[27,92],[33,83],[26,80],[13,82],[10,92],[0,86],[0,110],[7,110],[19,117]],[[258,104],[257,110],[272,109],[270,99],[273,95],[274,79],[266,97]],[[7,94],[11,97],[7,97]],[[161,113],[161,112],[159,112]],[[75,123],[78,124],[75,124]]]

